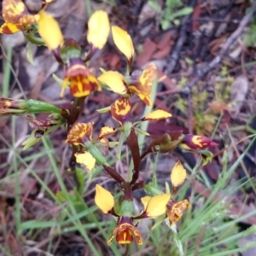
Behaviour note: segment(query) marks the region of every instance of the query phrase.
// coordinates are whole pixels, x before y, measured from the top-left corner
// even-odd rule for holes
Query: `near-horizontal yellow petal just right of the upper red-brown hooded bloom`
[[[113,90],[113,92],[120,95],[125,94],[127,91],[125,86],[125,78],[121,73],[118,73],[117,71],[107,71],[102,73],[98,77],[98,80],[102,84],[106,84],[110,90]]]

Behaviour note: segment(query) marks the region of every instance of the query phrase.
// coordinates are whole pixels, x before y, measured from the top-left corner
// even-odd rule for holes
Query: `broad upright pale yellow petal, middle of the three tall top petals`
[[[90,16],[88,21],[87,41],[94,47],[102,49],[108,40],[110,25],[108,14],[105,11],[97,10]]]

